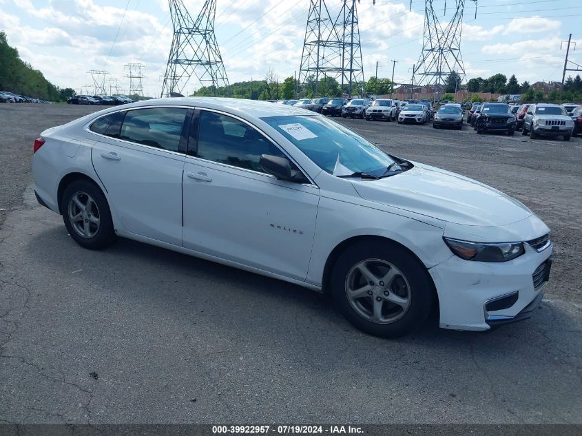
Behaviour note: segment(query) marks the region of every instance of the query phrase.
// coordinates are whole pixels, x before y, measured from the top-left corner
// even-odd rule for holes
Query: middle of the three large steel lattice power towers
[[[328,77],[338,81],[342,92],[346,88],[350,96],[355,85],[355,91],[363,91],[360,86],[364,84],[364,64],[355,0],[343,0],[335,19],[325,0],[311,0],[309,5],[299,83],[313,85],[313,92],[318,95],[320,80]]]

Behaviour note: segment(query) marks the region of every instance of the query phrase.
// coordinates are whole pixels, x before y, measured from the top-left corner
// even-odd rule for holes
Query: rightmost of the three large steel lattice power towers
[[[475,18],[477,18],[477,0]],[[461,81],[465,79],[465,67],[461,58],[461,28],[466,0],[455,0],[455,9],[448,23],[441,24],[433,6],[433,0],[425,0],[424,38],[422,52],[415,65],[413,76],[417,85],[433,85],[441,91],[448,74],[457,72]],[[446,17],[446,0],[444,3]]]

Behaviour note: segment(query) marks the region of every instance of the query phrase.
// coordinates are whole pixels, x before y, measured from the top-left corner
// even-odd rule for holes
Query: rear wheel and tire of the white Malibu
[[[82,209],[81,205],[89,207]],[[89,180],[74,180],[67,185],[61,199],[61,212],[70,236],[81,247],[98,250],[115,242],[107,198],[101,188]],[[81,220],[74,221],[73,216],[81,216]]]

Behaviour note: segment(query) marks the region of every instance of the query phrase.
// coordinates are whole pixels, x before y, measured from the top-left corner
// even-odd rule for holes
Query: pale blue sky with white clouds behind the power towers
[[[458,0],[457,0],[458,1]],[[172,21],[167,0],[0,0],[0,30],[21,59],[60,87],[81,92],[90,70],[107,71],[127,92],[127,63],[145,66],[146,95],[159,96]],[[204,0],[184,0],[196,18]],[[272,68],[280,81],[300,68],[309,0],[217,0],[215,33],[230,83],[264,79]],[[433,0],[447,21],[455,0]],[[337,14],[342,0],[326,0]],[[357,4],[364,77],[410,83],[422,52],[424,0],[362,0]],[[442,13],[441,13],[442,12]],[[518,81],[561,81],[565,42],[570,60],[582,64],[579,0],[466,0],[461,56],[466,80],[498,72]],[[578,24],[576,24],[578,23]],[[568,74],[567,74],[568,76]],[[188,85],[194,91],[199,84]]]

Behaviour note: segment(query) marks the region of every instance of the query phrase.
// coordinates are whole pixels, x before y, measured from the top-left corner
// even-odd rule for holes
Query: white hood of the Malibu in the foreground
[[[362,198],[461,225],[502,226],[532,215],[519,201],[444,169],[415,167],[380,180],[353,181]]]

